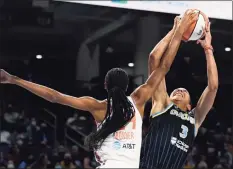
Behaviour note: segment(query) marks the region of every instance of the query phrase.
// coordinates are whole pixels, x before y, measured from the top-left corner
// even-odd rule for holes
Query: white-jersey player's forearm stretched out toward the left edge
[[[20,79],[19,77],[13,76],[12,77],[12,84],[16,84],[32,93],[35,95],[44,98],[45,100],[48,100],[50,102],[56,102],[58,99],[60,93],[50,89],[46,86],[42,86],[36,83],[32,83],[23,79]]]

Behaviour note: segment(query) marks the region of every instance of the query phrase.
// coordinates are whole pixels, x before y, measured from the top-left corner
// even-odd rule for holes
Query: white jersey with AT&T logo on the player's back
[[[94,152],[96,160],[100,163],[98,168],[139,168],[142,117],[132,98],[128,99],[134,106],[135,115],[125,127],[110,134]],[[97,129],[100,127],[97,124]]]

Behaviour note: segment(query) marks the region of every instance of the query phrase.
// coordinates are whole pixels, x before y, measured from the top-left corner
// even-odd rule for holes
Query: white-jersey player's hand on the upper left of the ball
[[[198,19],[198,13],[194,9],[188,9],[180,21],[180,33],[184,33]]]

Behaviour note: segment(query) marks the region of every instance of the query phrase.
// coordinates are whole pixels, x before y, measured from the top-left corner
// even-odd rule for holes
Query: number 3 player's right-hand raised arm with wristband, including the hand
[[[198,128],[212,108],[218,90],[218,70],[213,55],[211,40],[210,24],[208,24],[205,40],[198,41],[205,50],[208,77],[208,86],[202,93],[195,108],[195,119]]]

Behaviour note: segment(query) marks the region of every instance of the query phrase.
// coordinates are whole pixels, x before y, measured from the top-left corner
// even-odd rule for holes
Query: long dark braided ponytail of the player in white
[[[125,94],[128,83],[127,73],[120,68],[109,70],[105,76],[107,112],[100,128],[86,137],[85,145],[89,149],[100,148],[110,134],[124,127],[134,117],[133,105]]]

